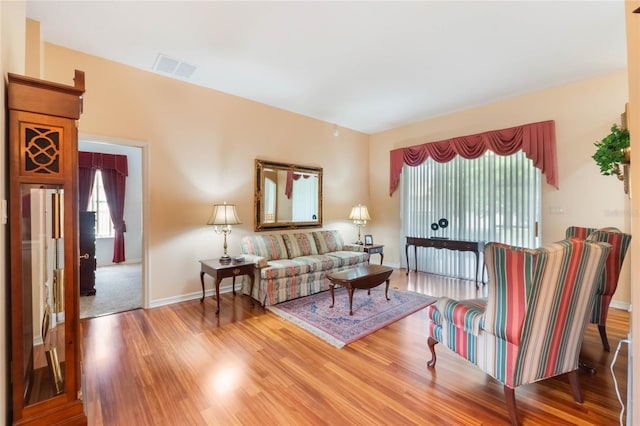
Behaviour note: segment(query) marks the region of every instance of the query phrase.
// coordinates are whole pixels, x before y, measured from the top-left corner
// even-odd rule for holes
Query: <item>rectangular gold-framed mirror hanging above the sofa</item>
[[[254,230],[322,226],[322,168],[256,159]]]

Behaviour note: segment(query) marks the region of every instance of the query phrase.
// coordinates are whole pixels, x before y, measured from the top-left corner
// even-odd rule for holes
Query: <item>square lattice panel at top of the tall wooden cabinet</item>
[[[60,173],[60,129],[24,129],[24,168],[29,173]]]

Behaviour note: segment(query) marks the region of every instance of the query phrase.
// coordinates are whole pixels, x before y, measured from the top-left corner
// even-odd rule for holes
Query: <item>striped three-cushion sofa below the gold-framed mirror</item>
[[[253,294],[263,306],[329,289],[327,275],[364,265],[362,246],[345,244],[338,231],[314,231],[243,237],[240,249],[256,263]],[[243,280],[249,294],[250,280]]]

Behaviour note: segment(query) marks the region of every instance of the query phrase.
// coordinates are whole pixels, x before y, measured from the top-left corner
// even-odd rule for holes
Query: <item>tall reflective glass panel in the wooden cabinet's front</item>
[[[25,405],[64,391],[62,187],[22,185]]]

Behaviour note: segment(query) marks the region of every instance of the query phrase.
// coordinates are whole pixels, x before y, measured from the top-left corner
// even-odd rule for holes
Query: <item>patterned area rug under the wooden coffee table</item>
[[[344,287],[335,291],[336,304],[331,305],[331,293],[317,293],[267,307],[274,314],[310,331],[331,345],[342,348],[435,302],[435,298],[412,291],[389,289],[384,298],[384,285],[356,290],[353,295],[353,316],[349,315],[349,295]]]

